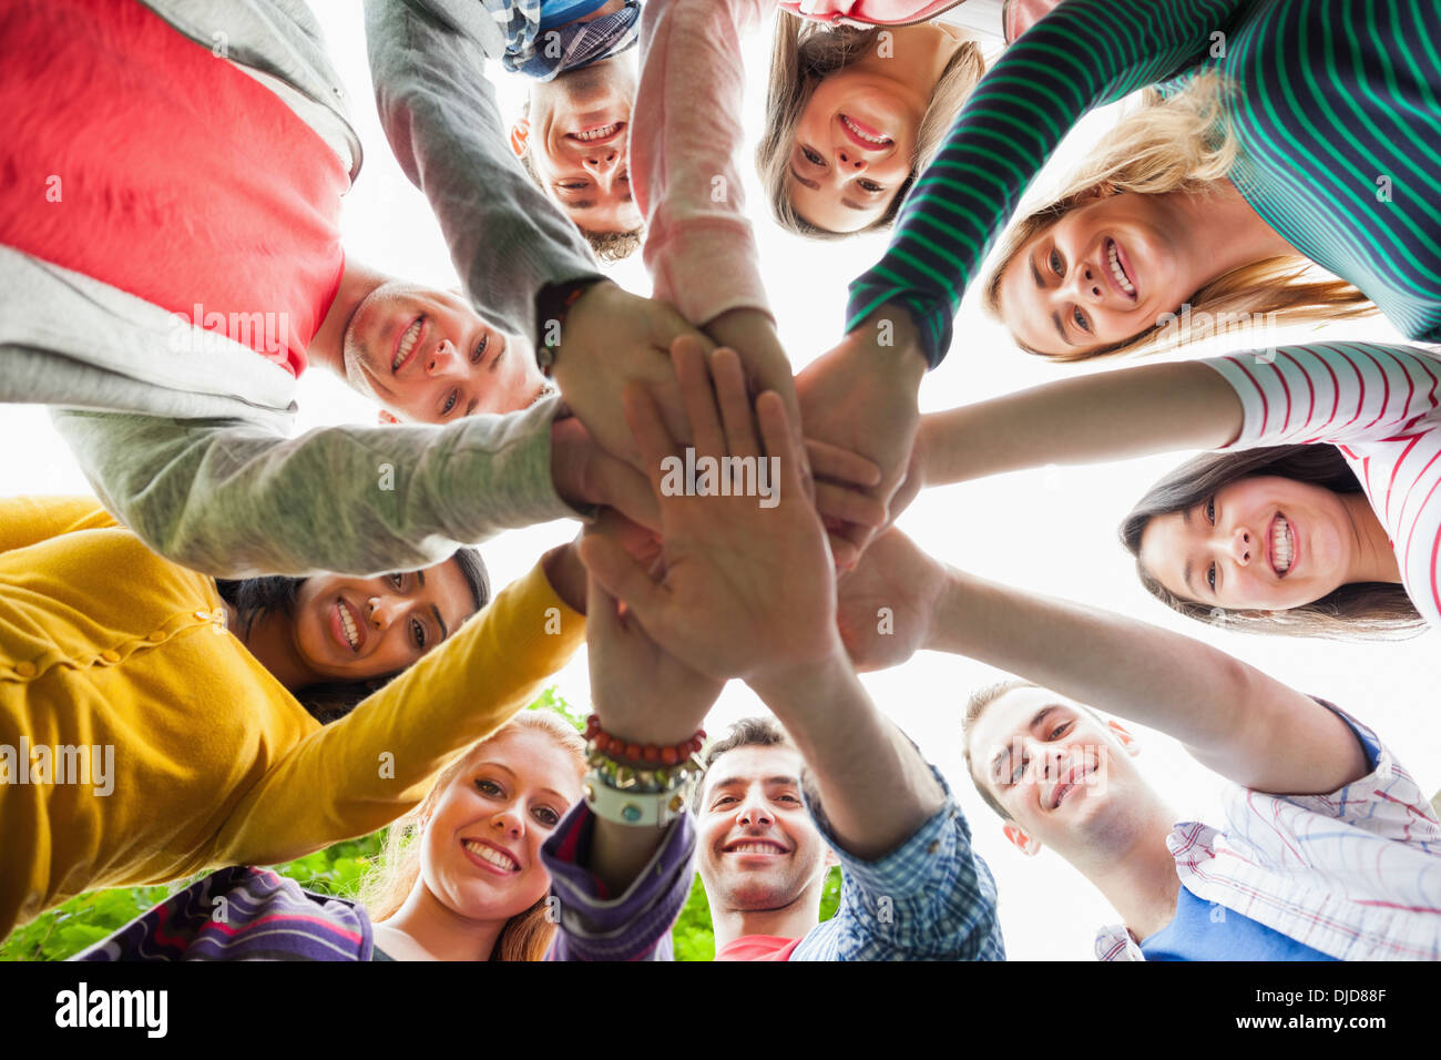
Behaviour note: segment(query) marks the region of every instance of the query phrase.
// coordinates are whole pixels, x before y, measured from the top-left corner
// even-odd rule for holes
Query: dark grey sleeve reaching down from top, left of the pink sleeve
[[[599,273],[510,150],[484,50],[403,0],[366,0],[366,40],[386,138],[425,192],[467,293],[535,345],[540,290]]]

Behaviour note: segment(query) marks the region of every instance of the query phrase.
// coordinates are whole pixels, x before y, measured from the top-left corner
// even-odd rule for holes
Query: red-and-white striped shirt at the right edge
[[[1441,358],[1369,342],[1210,358],[1244,408],[1228,449],[1329,443],[1391,538],[1401,581],[1441,629]]]

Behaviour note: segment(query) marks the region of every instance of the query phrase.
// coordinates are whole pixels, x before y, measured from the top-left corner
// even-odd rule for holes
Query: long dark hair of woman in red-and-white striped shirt
[[[1226,610],[1185,600],[1141,565],[1141,534],[1157,515],[1183,512],[1232,482],[1274,474],[1333,493],[1359,493],[1360,482],[1334,446],[1268,446],[1236,453],[1205,453],[1187,460],[1143,496],[1121,522],[1121,544],[1136,557],[1136,573],[1146,590],[1174,611],[1209,626],[1248,633],[1285,633],[1336,640],[1355,637],[1396,639],[1427,629],[1402,586],[1353,581],[1301,607],[1284,611]]]

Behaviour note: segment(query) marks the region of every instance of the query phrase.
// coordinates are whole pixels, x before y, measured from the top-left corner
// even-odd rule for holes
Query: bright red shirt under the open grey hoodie
[[[0,242],[294,375],[344,265],[336,153],[274,92],[135,0],[0,10]]]

